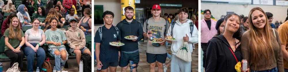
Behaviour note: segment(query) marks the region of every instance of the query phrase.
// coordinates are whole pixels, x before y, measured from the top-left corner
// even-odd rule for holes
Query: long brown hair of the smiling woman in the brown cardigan
[[[265,15],[264,17],[266,17],[266,24],[264,26],[264,33],[266,35],[265,39],[267,40],[266,43],[261,39],[262,34],[253,25],[251,15],[255,10],[260,10]],[[249,43],[248,43],[249,47],[251,48],[250,49],[251,62],[254,64],[257,64],[261,59],[260,55],[263,55],[266,58],[266,61],[267,61],[266,65],[267,65],[269,62],[268,56],[270,55],[270,52],[272,52],[272,54],[274,53],[272,45],[271,45],[271,41],[276,40],[276,38],[270,32],[271,27],[268,24],[269,22],[268,22],[266,13],[260,7],[255,7],[250,10],[248,20],[249,20],[248,32],[250,33],[249,36],[251,36],[249,38]]]

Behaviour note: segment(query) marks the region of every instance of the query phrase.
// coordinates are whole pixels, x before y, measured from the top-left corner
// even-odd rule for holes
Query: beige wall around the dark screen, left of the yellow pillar
[[[105,12],[106,10],[111,11],[114,13],[114,19],[112,24],[114,26],[116,26],[118,24],[118,22],[121,21],[121,5],[120,5],[120,0],[95,0],[94,1],[94,5],[103,5],[103,12]],[[102,25],[95,25],[94,29],[96,29],[96,31],[98,30],[98,28]],[[95,31],[95,32],[96,32]],[[94,34],[95,34],[94,32]]]

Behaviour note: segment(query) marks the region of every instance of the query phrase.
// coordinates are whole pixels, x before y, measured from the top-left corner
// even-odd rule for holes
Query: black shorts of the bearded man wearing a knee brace
[[[129,60],[133,61],[134,64],[139,63],[139,51],[134,53],[124,53],[120,51],[120,67],[126,67],[129,64]]]

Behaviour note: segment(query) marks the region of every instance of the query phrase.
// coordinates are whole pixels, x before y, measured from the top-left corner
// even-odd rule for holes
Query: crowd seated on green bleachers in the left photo
[[[11,13],[1,26],[1,36],[5,37],[5,55],[10,59],[10,67],[18,62],[19,69],[22,69],[23,58],[26,55],[27,71],[33,72],[34,57],[36,56],[36,68],[39,67],[41,71],[47,54],[42,48],[44,43],[48,44],[48,51],[55,57],[56,71],[65,71],[64,65],[69,56],[64,46],[66,43],[69,43],[69,51],[76,54],[78,65],[81,54],[87,53],[91,56],[90,50],[85,47],[85,36],[91,35],[92,28],[91,0],[80,0],[81,5],[89,6],[82,7],[82,19],[79,19],[75,13],[76,4],[72,4],[76,2],[74,1],[64,0],[63,4],[58,1],[56,2],[57,5],[54,5],[53,1],[49,1],[45,9],[41,6],[43,5],[41,0],[26,0],[22,1],[23,3],[16,10],[15,6],[12,5],[12,1],[8,0],[8,5],[1,7],[2,12]],[[15,12],[18,13],[15,14]],[[34,13],[36,14],[34,15]],[[30,18],[30,16],[32,17]],[[70,25],[71,27],[64,32],[59,29],[64,25]],[[23,33],[22,27],[24,26],[32,26],[32,28]],[[41,26],[44,26],[43,30]]]

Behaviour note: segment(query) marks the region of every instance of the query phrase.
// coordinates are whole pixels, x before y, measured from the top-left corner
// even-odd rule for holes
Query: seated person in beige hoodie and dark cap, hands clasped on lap
[[[72,18],[69,24],[71,25],[71,28],[66,31],[65,35],[68,43],[70,44],[70,51],[76,54],[76,60],[79,65],[81,54],[87,53],[91,56],[91,52],[87,47],[85,47],[85,35],[84,32],[77,27],[77,19]]]

